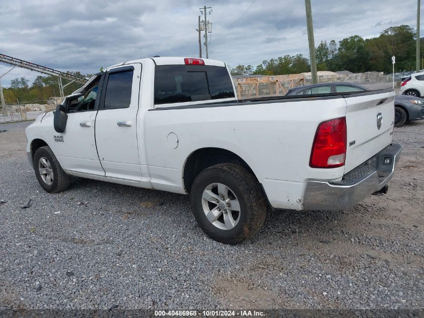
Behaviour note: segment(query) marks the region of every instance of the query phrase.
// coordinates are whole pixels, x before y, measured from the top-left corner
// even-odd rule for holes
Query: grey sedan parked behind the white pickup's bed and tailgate
[[[286,95],[310,95],[325,93],[341,93],[352,91],[368,91],[361,85],[334,82],[298,86],[290,89]],[[424,119],[424,99],[413,95],[396,95],[394,97],[394,126],[400,127],[405,122]]]

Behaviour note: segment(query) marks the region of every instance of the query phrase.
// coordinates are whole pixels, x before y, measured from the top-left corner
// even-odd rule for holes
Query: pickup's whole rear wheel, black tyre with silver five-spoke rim
[[[233,163],[200,172],[191,187],[191,202],[202,230],[221,243],[240,243],[265,221],[266,201],[258,181]]]

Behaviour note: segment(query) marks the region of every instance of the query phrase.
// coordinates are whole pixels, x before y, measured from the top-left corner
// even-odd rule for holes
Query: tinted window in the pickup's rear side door
[[[109,73],[104,109],[127,108],[131,102],[133,70]]]

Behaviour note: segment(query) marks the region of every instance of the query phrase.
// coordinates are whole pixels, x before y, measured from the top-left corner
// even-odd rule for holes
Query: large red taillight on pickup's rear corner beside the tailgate
[[[312,145],[312,168],[337,168],[346,159],[346,117],[322,122],[315,134]]]

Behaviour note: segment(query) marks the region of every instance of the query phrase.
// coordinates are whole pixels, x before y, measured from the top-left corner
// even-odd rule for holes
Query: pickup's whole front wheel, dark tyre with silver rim
[[[49,193],[64,191],[71,184],[71,176],[63,171],[49,146],[36,150],[34,170],[38,182]]]

